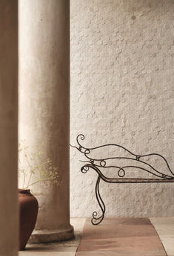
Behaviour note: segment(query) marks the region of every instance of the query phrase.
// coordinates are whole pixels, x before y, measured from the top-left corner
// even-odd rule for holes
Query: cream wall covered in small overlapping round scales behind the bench
[[[172,0],[71,1],[71,144],[84,133],[87,147],[161,153],[174,169],[173,14]],[[79,160],[71,149],[71,214],[90,217],[96,173],[81,173]],[[174,214],[173,184],[101,183],[101,196],[107,216]]]

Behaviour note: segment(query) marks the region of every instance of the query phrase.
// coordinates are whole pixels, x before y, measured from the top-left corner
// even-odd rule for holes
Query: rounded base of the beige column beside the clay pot
[[[66,228],[58,228],[54,230],[36,230],[30,236],[28,243],[53,243],[62,240],[69,240],[74,237],[73,225]]]

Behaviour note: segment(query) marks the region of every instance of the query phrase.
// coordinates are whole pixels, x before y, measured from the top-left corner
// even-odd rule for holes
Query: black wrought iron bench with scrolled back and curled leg
[[[161,156],[158,153],[151,153],[143,156],[135,155],[134,153],[130,152],[130,150],[127,150],[125,147],[122,147],[118,144],[104,144],[98,147],[89,148],[89,147],[82,146],[79,140],[84,141],[84,135],[82,134],[78,135],[76,138],[78,146],[76,147],[71,145],[71,147],[75,147],[80,153],[84,154],[84,156],[87,158],[87,161],[82,161],[85,164],[81,167],[81,172],[87,173],[88,170],[92,169],[92,170],[95,170],[96,173],[98,174],[98,178],[96,180],[96,199],[98,201],[98,205],[101,208],[101,215],[98,217],[98,213],[96,211],[93,212],[93,218],[91,220],[93,225],[98,225],[99,223],[101,223],[101,221],[104,219],[104,214],[106,211],[106,206],[104,205],[104,201],[101,198],[101,194],[99,191],[99,184],[101,179],[104,182],[108,182],[108,183],[174,182],[174,173],[170,169],[170,166],[167,163],[167,160],[164,158],[164,156]],[[124,154],[126,153],[127,156],[110,156],[110,157],[101,158],[101,159],[98,157],[93,157],[93,152],[95,150],[98,150],[101,148],[106,150],[107,147],[114,147],[114,149],[123,150],[123,153]],[[167,167],[167,171],[169,174],[156,170],[152,164],[148,163],[146,159],[150,157],[158,157],[159,161],[161,159],[161,161],[163,161],[165,166]],[[116,161],[121,160],[124,162],[128,160],[131,162],[131,164],[128,164],[128,165],[121,164],[120,166],[111,164],[110,161],[114,161],[115,159]],[[134,165],[134,163],[136,165]],[[138,164],[142,164],[143,166],[138,166]],[[116,169],[117,172],[115,170],[115,173],[116,173],[115,176],[110,178],[106,176],[106,174],[104,175],[103,170],[106,168],[113,168],[113,170]],[[143,173],[142,172],[140,173],[141,177],[126,178],[125,176],[127,176],[128,170],[134,170],[134,169],[138,170],[138,173],[140,171],[143,171]],[[144,174],[148,177],[144,178],[143,177]]]

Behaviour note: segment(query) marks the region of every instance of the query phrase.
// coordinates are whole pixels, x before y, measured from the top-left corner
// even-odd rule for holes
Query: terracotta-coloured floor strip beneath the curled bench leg
[[[106,219],[98,226],[87,220],[76,255],[92,252],[106,256],[166,256],[155,228],[144,218]]]

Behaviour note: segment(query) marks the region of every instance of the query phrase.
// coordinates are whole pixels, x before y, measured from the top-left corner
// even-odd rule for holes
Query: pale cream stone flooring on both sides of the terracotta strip
[[[150,218],[155,226],[168,256],[174,256],[174,217],[168,218]],[[81,240],[85,219],[73,218],[71,224],[75,229],[75,238],[70,241],[64,241],[51,244],[27,245],[19,256],[75,256],[78,244]]]

